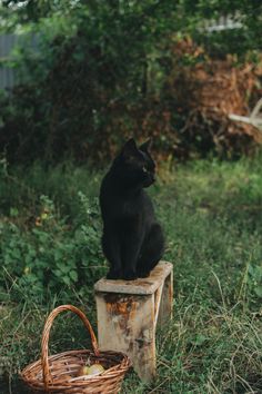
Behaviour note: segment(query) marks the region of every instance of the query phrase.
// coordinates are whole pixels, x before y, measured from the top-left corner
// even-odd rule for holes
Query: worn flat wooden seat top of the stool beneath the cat
[[[135,280],[112,280],[102,278],[94,285],[95,292],[109,292],[119,294],[153,294],[173,270],[173,265],[160,262],[150,276]]]

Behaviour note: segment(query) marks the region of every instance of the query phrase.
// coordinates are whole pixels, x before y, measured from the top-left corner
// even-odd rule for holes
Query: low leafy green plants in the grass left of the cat
[[[52,200],[40,197],[39,215],[27,228],[12,219],[0,221],[1,295],[36,297],[44,301],[48,294],[66,295],[75,288],[83,295],[87,287],[104,272],[100,248],[100,221],[95,201],[81,191],[81,221],[67,224],[56,211]],[[17,289],[17,292],[16,292]]]

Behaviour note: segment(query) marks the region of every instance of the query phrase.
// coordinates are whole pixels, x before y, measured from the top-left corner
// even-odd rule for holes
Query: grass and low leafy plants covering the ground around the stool
[[[54,306],[79,305],[95,328],[92,289],[105,273],[95,201],[101,175],[69,164],[3,167],[0,370],[16,381],[39,358]],[[157,380],[145,385],[132,373],[123,393],[261,391],[261,156],[161,166],[151,194],[167,236],[164,258],[174,264],[174,314],[158,333]],[[66,314],[52,328],[50,353],[90,348],[87,337]]]

